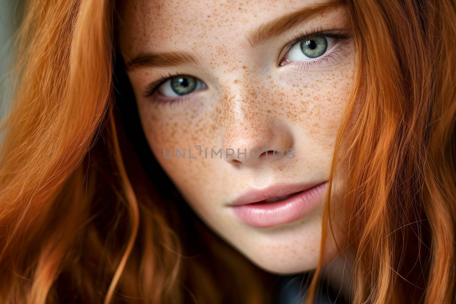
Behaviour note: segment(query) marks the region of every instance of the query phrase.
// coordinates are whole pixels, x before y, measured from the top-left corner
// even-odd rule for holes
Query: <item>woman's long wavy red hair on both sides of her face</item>
[[[354,248],[350,302],[454,303],[455,1],[344,2],[357,67],[328,194],[349,163],[337,205],[340,252]],[[268,303],[268,275],[154,160],[116,52],[115,1],[24,7],[3,98],[1,303]]]

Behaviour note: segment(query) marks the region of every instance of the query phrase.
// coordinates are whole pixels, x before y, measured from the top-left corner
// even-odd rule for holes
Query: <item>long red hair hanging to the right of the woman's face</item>
[[[456,4],[347,1],[347,12],[358,67],[334,159],[350,164],[337,204],[355,253],[352,302],[453,303]]]

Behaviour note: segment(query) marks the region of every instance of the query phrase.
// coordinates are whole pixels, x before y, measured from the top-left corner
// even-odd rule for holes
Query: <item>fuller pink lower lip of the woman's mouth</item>
[[[326,185],[327,182],[324,182],[272,203],[253,203],[230,207],[246,225],[256,228],[284,225],[300,220],[309,214],[323,197]]]

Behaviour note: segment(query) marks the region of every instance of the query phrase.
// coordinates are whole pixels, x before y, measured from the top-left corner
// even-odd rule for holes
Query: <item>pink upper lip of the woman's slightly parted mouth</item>
[[[323,182],[324,183],[324,182]],[[319,183],[292,183],[292,184],[274,184],[263,189],[252,189],[238,196],[230,205],[245,205],[260,202],[264,199],[284,196],[311,189]]]

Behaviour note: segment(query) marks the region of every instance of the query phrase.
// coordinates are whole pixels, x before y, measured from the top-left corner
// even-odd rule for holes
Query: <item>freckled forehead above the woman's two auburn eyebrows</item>
[[[264,22],[327,0],[123,0],[117,5],[122,51],[201,51],[230,44]],[[223,43],[227,42],[227,43]],[[236,44],[236,43],[234,43]]]

